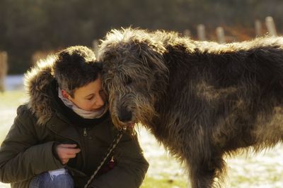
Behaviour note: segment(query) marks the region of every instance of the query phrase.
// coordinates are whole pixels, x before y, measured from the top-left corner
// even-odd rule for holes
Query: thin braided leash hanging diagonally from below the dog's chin
[[[96,171],[94,171],[93,175],[91,175],[91,178],[88,180],[88,182],[86,183],[86,185],[84,186],[84,188],[87,188],[88,185],[91,183],[91,181],[94,179],[94,177],[96,176],[96,174],[98,173],[98,171],[100,170],[100,168],[103,166],[103,164],[105,163],[106,159],[110,156],[110,153],[112,153],[112,151],[115,149],[115,147],[117,146],[117,144],[120,142],[120,139],[122,138],[123,133],[125,132],[125,130],[127,130],[127,127],[122,127],[122,129],[118,132],[117,136],[115,137],[115,139],[113,140],[112,144],[110,145],[110,147],[108,148],[108,151],[105,153],[105,157],[103,158],[103,160],[100,162],[100,165],[98,165],[98,168],[96,168]]]

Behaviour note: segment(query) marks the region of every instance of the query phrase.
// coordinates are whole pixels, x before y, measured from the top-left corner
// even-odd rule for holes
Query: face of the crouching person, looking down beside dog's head
[[[64,94],[63,94],[64,96]],[[101,76],[98,79],[74,91],[74,98],[69,94],[68,99],[85,111],[100,111],[106,100],[101,87]]]

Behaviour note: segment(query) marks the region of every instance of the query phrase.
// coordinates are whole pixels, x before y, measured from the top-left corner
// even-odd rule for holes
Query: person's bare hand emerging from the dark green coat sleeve
[[[64,165],[68,163],[70,158],[75,158],[76,153],[79,153],[81,149],[76,148],[76,144],[58,144],[56,151],[61,163]]]

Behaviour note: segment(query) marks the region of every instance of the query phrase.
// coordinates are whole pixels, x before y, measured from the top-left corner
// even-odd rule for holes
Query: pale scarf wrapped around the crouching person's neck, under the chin
[[[73,110],[76,114],[80,115],[82,118],[85,118],[85,119],[100,118],[102,115],[104,115],[104,113],[106,111],[108,111],[107,103],[105,103],[105,105],[103,106],[103,108],[100,111],[85,111],[85,110],[79,108],[78,106],[76,106],[76,104],[74,104],[69,99],[64,98],[64,96],[62,96],[61,90],[62,89],[58,88],[59,98],[63,101],[63,103],[67,107],[71,108],[71,110]]]

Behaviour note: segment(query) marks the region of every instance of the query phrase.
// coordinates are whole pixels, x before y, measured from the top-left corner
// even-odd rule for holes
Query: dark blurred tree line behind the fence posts
[[[251,35],[255,19],[267,15],[282,30],[282,9],[281,0],[0,0],[0,51],[8,52],[9,73],[23,73],[34,51],[91,46],[112,28],[190,29],[194,36],[202,23],[207,32],[223,26]]]

